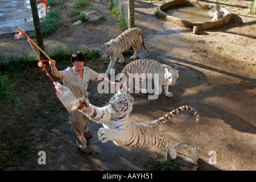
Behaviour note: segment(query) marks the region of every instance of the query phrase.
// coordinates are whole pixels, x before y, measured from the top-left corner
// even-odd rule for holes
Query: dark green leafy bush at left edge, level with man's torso
[[[7,105],[18,105],[19,98],[15,96],[15,85],[11,84],[6,75],[0,75],[0,109]]]

